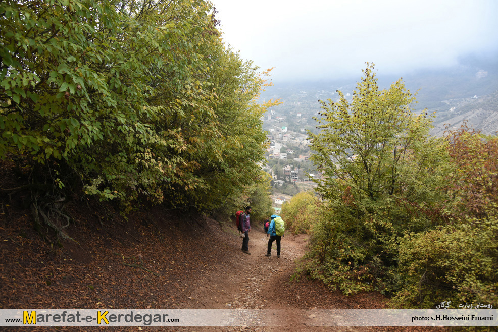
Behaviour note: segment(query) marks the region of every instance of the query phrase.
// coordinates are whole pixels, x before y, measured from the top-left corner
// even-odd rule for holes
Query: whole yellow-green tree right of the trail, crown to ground
[[[340,91],[338,102],[322,102],[320,133],[309,132],[331,215],[314,228],[316,276],[345,293],[398,287],[399,237],[432,227],[446,155],[401,80],[380,90],[373,65],[363,74],[351,102]]]

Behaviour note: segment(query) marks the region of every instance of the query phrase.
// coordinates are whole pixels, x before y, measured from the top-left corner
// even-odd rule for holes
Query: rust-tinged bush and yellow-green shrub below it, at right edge
[[[498,305],[498,138],[465,125],[447,133],[451,171],[440,190],[444,225],[406,235],[400,272],[406,278],[394,303],[430,306],[443,297]],[[455,305],[455,306],[456,306]]]

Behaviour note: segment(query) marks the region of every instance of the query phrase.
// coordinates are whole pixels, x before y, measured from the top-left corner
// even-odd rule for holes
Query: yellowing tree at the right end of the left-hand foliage
[[[266,137],[261,115],[274,104],[256,103],[259,93],[268,85],[257,68],[242,63],[236,54],[225,54],[217,82],[220,103],[215,109],[216,135],[209,144],[196,149],[194,160],[203,160],[194,172],[203,186],[192,192],[194,200],[205,209],[222,204],[231,192],[240,192],[262,178],[258,162],[264,159]],[[264,71],[262,75],[267,75]],[[241,90],[238,90],[241,89]]]

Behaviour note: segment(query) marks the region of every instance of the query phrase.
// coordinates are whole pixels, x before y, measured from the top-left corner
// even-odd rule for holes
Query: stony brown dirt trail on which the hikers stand
[[[209,223],[211,228],[219,225]],[[294,289],[301,283],[289,284],[289,279],[295,271],[295,262],[306,251],[308,236],[293,236],[287,234],[281,241],[281,255],[277,258],[276,243],[273,243],[272,256],[266,257],[268,237],[259,226],[254,226],[250,232],[249,248],[251,255],[243,253],[240,248],[240,239],[235,229],[229,231],[230,243],[233,252],[225,260],[225,269],[220,269],[207,276],[204,282],[213,287],[204,287],[194,293],[188,308],[199,309],[273,309],[281,314],[278,327],[216,327],[203,328],[213,331],[322,331],[332,327],[312,327],[313,317],[305,315],[308,309],[346,309],[356,308],[359,305],[345,303],[345,307],[330,306],[329,302],[320,302],[320,299],[307,299],[310,293],[303,289]],[[221,253],[220,253],[221,254]],[[312,282],[313,283],[313,282]],[[314,284],[314,283],[313,283]],[[308,285],[308,288],[315,287]],[[336,297],[328,289],[316,290],[325,297]],[[338,295],[340,298],[344,296]],[[308,303],[309,301],[310,303]],[[353,299],[353,302],[355,300]],[[378,299],[376,299],[378,305]],[[346,301],[347,302],[347,301]],[[309,305],[307,305],[309,304]],[[175,330],[192,331],[199,328],[183,327]],[[334,331],[367,331],[371,328],[334,327]]]

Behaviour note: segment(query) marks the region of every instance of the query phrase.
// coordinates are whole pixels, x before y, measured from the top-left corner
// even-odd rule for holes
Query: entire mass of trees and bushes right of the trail
[[[308,273],[404,308],[498,305],[498,138],[429,137],[403,82],[379,90],[373,65],[363,73],[351,102],[322,102],[310,133],[323,202],[303,193],[282,206],[293,232],[312,234]]]

